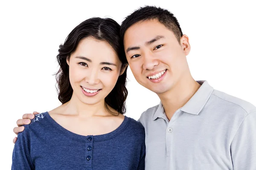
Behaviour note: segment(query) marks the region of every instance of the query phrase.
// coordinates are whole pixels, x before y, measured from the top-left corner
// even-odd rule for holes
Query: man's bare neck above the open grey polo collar
[[[189,99],[198,91],[200,84],[192,77],[182,79],[176,83],[175,87],[163,94],[158,94],[167,118],[170,120],[179,108],[183,107]]]

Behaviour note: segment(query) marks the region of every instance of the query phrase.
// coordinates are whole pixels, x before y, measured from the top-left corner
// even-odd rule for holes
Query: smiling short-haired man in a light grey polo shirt
[[[161,100],[139,119],[146,170],[256,170],[256,107],[192,78],[189,38],[173,14],[140,8],[121,36],[135,79]]]

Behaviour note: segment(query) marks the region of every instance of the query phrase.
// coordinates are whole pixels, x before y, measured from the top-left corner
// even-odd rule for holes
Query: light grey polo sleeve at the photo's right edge
[[[256,112],[244,118],[230,149],[234,170],[256,170]]]

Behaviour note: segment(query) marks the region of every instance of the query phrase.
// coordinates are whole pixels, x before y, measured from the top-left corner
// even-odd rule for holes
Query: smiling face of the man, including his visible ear
[[[175,88],[186,77],[189,68],[189,39],[175,34],[157,20],[138,22],[124,36],[125,54],[140,85],[162,94]]]

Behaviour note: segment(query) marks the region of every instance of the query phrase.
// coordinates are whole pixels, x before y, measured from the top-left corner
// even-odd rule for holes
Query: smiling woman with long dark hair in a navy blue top
[[[18,134],[12,170],[144,169],[143,126],[123,116],[128,64],[119,28],[112,19],[91,18],[59,46],[62,105]]]

